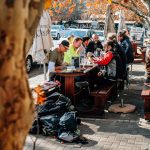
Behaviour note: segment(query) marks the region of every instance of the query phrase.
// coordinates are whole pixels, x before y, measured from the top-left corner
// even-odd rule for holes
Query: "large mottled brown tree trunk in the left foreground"
[[[44,1],[41,0],[41,2]],[[39,14],[29,16],[29,12],[31,9],[37,11],[38,6],[42,7],[41,2],[40,0],[36,2],[34,0],[0,0],[1,150],[23,149],[25,137],[32,124],[33,101],[25,71],[24,48],[28,42],[26,34],[30,36],[28,40],[31,40],[38,21],[35,17]],[[30,23],[29,20],[33,22]],[[34,29],[31,33],[33,24]]]

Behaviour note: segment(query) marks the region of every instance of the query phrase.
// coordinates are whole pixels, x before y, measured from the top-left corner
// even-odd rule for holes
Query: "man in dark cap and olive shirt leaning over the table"
[[[49,77],[52,76],[50,73],[53,69],[63,69],[66,65],[64,60],[64,52],[66,52],[69,48],[69,42],[66,40],[63,40],[57,48],[55,48],[53,51],[49,54],[49,67],[48,67],[48,74]],[[52,65],[54,65],[55,68],[52,68]]]

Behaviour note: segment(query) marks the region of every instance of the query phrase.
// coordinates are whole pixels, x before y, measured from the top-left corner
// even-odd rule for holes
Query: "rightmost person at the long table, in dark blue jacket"
[[[134,60],[132,44],[125,32],[122,31],[118,33],[118,42],[120,43],[122,49],[125,51],[127,65],[132,63]]]

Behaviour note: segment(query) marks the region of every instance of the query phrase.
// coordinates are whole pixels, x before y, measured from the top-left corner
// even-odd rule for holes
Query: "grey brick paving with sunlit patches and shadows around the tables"
[[[131,84],[121,96],[125,103],[136,105],[136,111],[129,114],[109,113],[99,119],[82,118],[79,126],[88,144],[60,143],[54,137],[39,136],[35,150],[150,150],[150,122],[143,119],[143,101],[140,96],[144,80],[144,65],[134,64]],[[39,78],[39,76],[38,76]],[[41,74],[41,78],[43,75]],[[34,76],[30,85],[34,85]],[[114,103],[118,103],[119,99]],[[28,135],[24,150],[33,149],[35,136]]]

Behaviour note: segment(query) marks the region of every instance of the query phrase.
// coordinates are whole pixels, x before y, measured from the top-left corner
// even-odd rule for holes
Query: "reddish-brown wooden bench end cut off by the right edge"
[[[144,118],[150,120],[150,81],[144,84],[141,96],[144,99]]]

